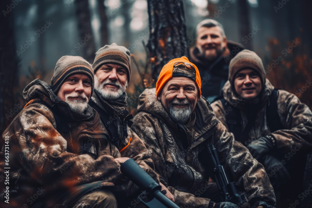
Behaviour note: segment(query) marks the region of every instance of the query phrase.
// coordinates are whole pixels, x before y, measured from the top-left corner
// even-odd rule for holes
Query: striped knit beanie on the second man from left
[[[128,82],[130,81],[130,51],[124,46],[118,46],[116,43],[105,45],[95,53],[95,59],[92,64],[94,74],[103,64],[119,64],[127,69]]]

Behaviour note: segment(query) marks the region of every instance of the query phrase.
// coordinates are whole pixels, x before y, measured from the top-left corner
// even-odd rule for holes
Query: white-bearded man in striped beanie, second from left
[[[125,108],[127,106],[125,89],[131,75],[130,51],[116,43],[105,45],[96,52],[92,67],[95,74],[95,90],[89,104],[100,114],[100,119],[105,124],[111,148],[115,152],[115,157],[118,157],[116,159],[122,163],[133,158],[156,182],[160,183],[162,190],[167,191],[166,196],[174,201],[173,195],[163,185],[166,184],[165,181],[154,172],[154,163],[149,158],[144,143],[130,129],[132,122],[129,120],[133,117]],[[134,189],[129,188],[125,191],[133,193]],[[118,195],[116,197],[118,200]],[[119,197],[120,207],[132,206],[128,203],[133,200],[133,196]]]

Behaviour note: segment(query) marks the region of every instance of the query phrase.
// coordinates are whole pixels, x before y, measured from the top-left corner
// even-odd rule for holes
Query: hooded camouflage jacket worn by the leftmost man
[[[105,126],[93,108],[88,105],[84,114],[72,112],[48,84],[38,79],[24,89],[23,95],[32,101],[2,134],[3,139],[9,139],[10,147],[10,204],[37,203],[39,200],[32,201],[30,197],[38,189],[44,190],[40,197],[48,199],[42,207],[58,203],[61,203],[58,207],[66,207],[68,204],[63,203],[66,195],[78,200],[81,194],[102,186],[127,194],[137,189],[121,174],[120,164],[114,159],[121,157],[119,150],[110,143]],[[64,119],[65,125],[56,126],[54,114]],[[125,154],[128,157],[133,154],[135,160],[142,158],[137,152],[146,152],[144,145],[138,145],[137,152],[129,150],[126,148]],[[4,154],[5,146],[1,156]],[[138,163],[149,167],[143,161]],[[2,192],[3,201],[4,196]],[[67,201],[72,203],[71,199]]]

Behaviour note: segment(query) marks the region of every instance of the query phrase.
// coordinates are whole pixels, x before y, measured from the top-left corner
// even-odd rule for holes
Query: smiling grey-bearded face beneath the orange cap
[[[178,123],[185,123],[199,100],[195,82],[187,77],[173,77],[158,96],[164,109]]]

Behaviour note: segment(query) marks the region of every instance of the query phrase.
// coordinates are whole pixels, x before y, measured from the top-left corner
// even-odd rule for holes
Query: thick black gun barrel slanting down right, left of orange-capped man
[[[121,164],[120,171],[138,185],[141,189],[148,191],[154,198],[168,208],[179,208],[173,201],[160,192],[161,186],[147,174],[133,159]]]

